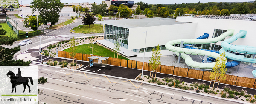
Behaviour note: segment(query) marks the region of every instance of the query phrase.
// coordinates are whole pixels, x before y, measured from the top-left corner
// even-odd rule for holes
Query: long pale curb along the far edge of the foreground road
[[[41,66],[47,66],[47,65],[42,65],[42,64],[40,64],[40,65]],[[60,67],[57,67],[57,66],[49,66],[49,67],[60,68]],[[201,96],[207,96],[207,97],[212,97],[212,98],[221,99],[221,100],[233,101],[233,102],[237,102],[237,103],[241,103],[241,104],[250,104],[250,103],[245,103],[245,102],[242,102],[242,101],[225,99],[225,98],[221,98],[221,97],[217,97],[217,96],[211,96],[211,95],[206,95],[206,94],[202,94],[202,93],[195,93],[195,92],[191,92],[191,91],[188,91],[188,90],[181,90],[181,89],[178,89],[178,88],[172,88],[172,87],[157,85],[157,84],[153,84],[153,83],[137,81],[137,80],[134,80],[134,79],[127,79],[127,78],[110,76],[110,75],[105,75],[105,74],[92,73],[92,72],[87,72],[87,71],[78,71],[78,70],[67,69],[67,68],[61,68],[61,69],[66,69],[66,70],[70,70],[70,71],[77,71],[77,72],[82,72],[82,73],[87,73],[87,74],[94,74],[94,75],[99,75],[99,76],[107,76],[107,77],[112,77],[112,78],[117,78],[117,79],[131,80],[131,81],[134,81],[134,82],[141,82],[141,83],[145,83],[145,84],[148,84],[148,85],[154,85],[154,86],[158,86],[158,87],[169,88],[169,89],[172,89],[172,90],[179,90],[179,91],[183,91],[183,92],[186,92],[186,93],[193,93],[193,94],[198,94],[198,95],[201,95]]]

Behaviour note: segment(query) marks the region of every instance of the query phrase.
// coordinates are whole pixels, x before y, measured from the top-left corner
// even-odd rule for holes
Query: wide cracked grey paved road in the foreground
[[[39,89],[44,89],[44,94],[39,96],[39,103],[192,104],[193,100],[191,99],[196,99],[199,100],[195,100],[194,103],[196,104],[200,103],[200,101],[205,101],[202,104],[237,104],[123,79],[61,70],[63,69],[39,66],[39,77],[47,78],[47,83],[39,85]],[[184,99],[181,100],[181,96],[191,99],[184,101]]]

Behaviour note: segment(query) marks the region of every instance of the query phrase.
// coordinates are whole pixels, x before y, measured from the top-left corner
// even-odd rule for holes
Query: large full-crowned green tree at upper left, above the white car
[[[32,11],[38,11],[39,16],[44,20],[44,25],[51,22],[50,27],[58,22],[59,13],[63,8],[60,0],[34,0],[31,2]]]

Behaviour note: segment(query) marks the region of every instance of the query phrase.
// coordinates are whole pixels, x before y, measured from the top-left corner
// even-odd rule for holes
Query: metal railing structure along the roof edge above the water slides
[[[245,16],[246,14],[183,14],[183,17],[190,18],[205,18],[205,19],[232,19],[232,20],[245,20],[250,19]]]

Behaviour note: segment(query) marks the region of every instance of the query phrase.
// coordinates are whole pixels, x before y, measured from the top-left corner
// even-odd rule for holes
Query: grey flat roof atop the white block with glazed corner
[[[162,26],[162,25],[174,25],[184,24],[189,22],[176,22],[176,19],[170,18],[145,18],[145,19],[122,19],[122,20],[108,20],[108,21],[97,21],[99,23],[113,25],[124,28],[136,28],[136,27],[151,27],[151,26]]]

